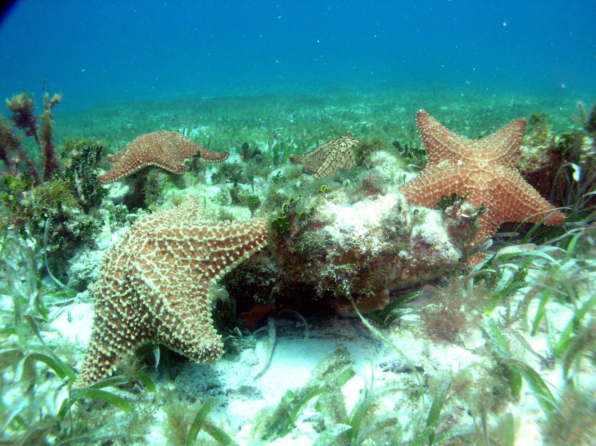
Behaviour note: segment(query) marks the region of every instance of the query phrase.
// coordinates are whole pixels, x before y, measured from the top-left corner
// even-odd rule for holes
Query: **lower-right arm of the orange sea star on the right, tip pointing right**
[[[507,175],[494,189],[493,206],[499,223],[506,221],[529,221],[536,223],[545,216],[546,225],[556,225],[565,221],[565,216],[554,210],[554,206],[540,196],[538,191],[527,184],[515,169],[506,169]],[[552,211],[552,212],[548,212]]]

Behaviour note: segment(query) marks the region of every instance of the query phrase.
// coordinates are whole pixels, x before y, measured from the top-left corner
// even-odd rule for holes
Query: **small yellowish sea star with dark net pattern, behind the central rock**
[[[309,153],[290,156],[290,161],[304,165],[315,178],[330,176],[341,168],[354,167],[352,148],[358,143],[360,140],[354,138],[351,132],[347,132],[343,137],[327,141]]]

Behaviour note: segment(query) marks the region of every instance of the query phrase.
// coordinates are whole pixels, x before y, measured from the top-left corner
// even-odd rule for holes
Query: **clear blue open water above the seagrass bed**
[[[15,2],[0,97],[60,109],[175,95],[596,92],[594,1]]]

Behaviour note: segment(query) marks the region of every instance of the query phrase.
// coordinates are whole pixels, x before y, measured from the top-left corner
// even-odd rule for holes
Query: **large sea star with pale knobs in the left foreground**
[[[136,222],[105,253],[89,288],[95,324],[75,387],[109,376],[144,343],[163,343],[198,362],[222,355],[209,285],[267,243],[263,219],[200,222],[197,199]]]

